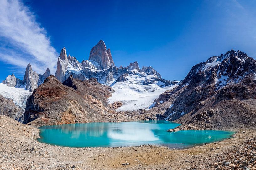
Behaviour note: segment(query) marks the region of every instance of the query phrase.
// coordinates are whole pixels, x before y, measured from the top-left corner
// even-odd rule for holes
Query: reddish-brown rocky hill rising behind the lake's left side
[[[95,78],[81,81],[72,75],[63,84],[50,75],[28,98],[24,124],[54,125],[97,121],[129,121],[107,106],[112,88]]]

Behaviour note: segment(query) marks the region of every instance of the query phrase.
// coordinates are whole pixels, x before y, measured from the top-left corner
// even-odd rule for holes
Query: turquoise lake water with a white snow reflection
[[[187,146],[230,138],[234,132],[186,130],[167,132],[180,124],[169,121],[95,122],[40,127],[39,142],[68,147],[116,147],[144,144]]]

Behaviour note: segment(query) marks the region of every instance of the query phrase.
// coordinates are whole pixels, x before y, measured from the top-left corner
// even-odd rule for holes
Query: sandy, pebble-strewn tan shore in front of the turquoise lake
[[[230,157],[230,151],[240,149],[239,146],[248,140],[256,140],[256,130],[240,129],[234,138],[180,150],[155,145],[69,148],[39,143],[36,140],[38,137],[39,129],[0,116],[0,170],[216,169],[215,162],[221,164],[227,160],[225,155]],[[217,147],[219,149],[215,149]],[[123,165],[126,163],[129,165]]]

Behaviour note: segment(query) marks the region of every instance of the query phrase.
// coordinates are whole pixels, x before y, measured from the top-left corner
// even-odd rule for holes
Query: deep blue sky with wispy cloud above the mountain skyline
[[[256,1],[0,1],[0,80],[26,65],[55,74],[60,50],[79,61],[103,40],[116,66],[138,61],[182,80],[230,49],[256,57]]]

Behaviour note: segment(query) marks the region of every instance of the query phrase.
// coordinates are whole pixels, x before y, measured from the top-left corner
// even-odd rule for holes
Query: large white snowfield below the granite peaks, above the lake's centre
[[[146,79],[151,79],[153,75],[132,70],[133,74],[126,76],[128,80],[116,82],[111,87],[115,90],[112,96],[108,98],[108,103],[122,101],[123,105],[117,111],[133,111],[138,109],[151,109],[154,100],[166,90],[175,88],[178,85],[163,86],[161,81],[155,81],[153,84],[143,85]],[[114,83],[114,82],[112,82]],[[109,83],[111,84],[111,83]],[[162,85],[160,87],[160,85]]]

